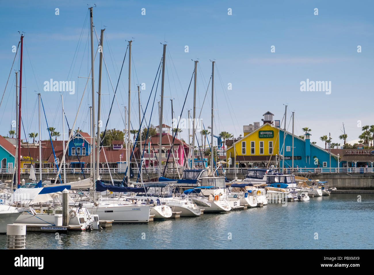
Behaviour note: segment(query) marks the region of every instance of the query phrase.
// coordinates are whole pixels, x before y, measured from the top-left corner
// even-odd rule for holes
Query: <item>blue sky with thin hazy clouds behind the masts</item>
[[[20,53],[15,58],[12,49],[20,40],[18,31],[25,35],[22,76],[25,130],[22,129],[21,137],[25,137],[24,132],[38,132],[38,93],[49,127],[55,127],[62,134],[62,94],[70,128],[73,128],[77,115],[74,129],[80,127],[85,132],[90,131],[92,91],[91,79],[87,78],[91,70],[88,7],[94,4],[93,25],[97,35],[100,36],[100,30],[105,28],[103,53],[107,69],[103,65],[101,84],[103,126],[118,82],[109,129],[125,128],[128,54],[120,79],[118,77],[128,40],[133,40],[132,128],[139,127],[137,84],[145,83],[145,89],[141,90],[141,105],[145,110],[164,43],[167,46],[163,119],[168,125],[171,125],[171,99],[174,116],[181,114],[194,60],[199,61],[196,116],[199,117],[201,111],[205,129],[211,125],[211,86],[207,84],[212,73],[211,61],[215,61],[214,134],[227,131],[234,137],[243,135],[243,125],[261,122],[266,111],[282,121],[285,105],[288,106],[288,131],[292,131],[291,113],[294,111],[295,134],[301,135],[302,128],[309,127],[312,129],[311,140],[317,141],[321,147],[325,145],[319,139],[322,135],[331,133],[332,142],[343,144],[338,139],[343,131],[348,135],[347,141],[357,140],[362,132],[361,126],[374,124],[373,1],[106,0],[87,4],[87,1],[69,0],[0,1],[0,97],[4,92],[0,106],[1,135],[7,135],[16,116],[15,69],[19,70]],[[318,15],[315,15],[316,9]],[[96,53],[96,36],[93,42]],[[358,52],[358,47],[361,52]],[[98,74],[99,54],[94,66],[95,108]],[[74,81],[74,94],[45,91],[44,83],[50,79]],[[329,92],[301,91],[303,81],[327,81]],[[145,111],[145,120],[155,126],[159,124],[157,101],[160,100],[160,86],[161,79],[152,116],[155,88]],[[193,81],[182,117],[186,119],[187,110],[192,114],[192,109]],[[97,119],[97,109],[95,113]],[[46,125],[42,111],[43,140],[48,138]],[[67,128],[65,124],[65,132]],[[187,141],[188,129],[182,130],[178,137]]]

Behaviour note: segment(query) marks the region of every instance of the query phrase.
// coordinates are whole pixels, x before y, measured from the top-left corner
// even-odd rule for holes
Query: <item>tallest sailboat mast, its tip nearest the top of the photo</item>
[[[91,177],[93,181],[93,190],[95,191],[95,182],[96,182],[96,174],[93,171],[95,169],[95,81],[94,76],[95,73],[93,72],[93,22],[92,22],[92,7],[89,8],[90,10],[90,28],[91,28],[91,88],[92,88],[92,126],[91,126],[91,140],[92,140],[92,169],[91,169]]]

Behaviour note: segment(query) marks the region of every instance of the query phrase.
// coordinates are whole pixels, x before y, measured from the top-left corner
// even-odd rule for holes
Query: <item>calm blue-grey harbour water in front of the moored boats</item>
[[[357,195],[333,194],[288,202],[286,207],[268,204],[149,224],[114,224],[101,232],[60,234],[60,240],[53,233],[30,232],[26,244],[33,249],[373,249],[374,194],[362,194],[361,202]],[[0,247],[6,247],[6,235],[0,235]]]

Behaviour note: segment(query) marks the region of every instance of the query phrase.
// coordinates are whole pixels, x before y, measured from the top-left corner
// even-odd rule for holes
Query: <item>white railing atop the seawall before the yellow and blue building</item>
[[[253,168],[224,168],[224,170],[227,173],[234,174],[247,174],[248,169],[253,169]],[[259,169],[266,169],[266,168],[261,168]],[[274,169],[274,168],[268,168],[268,169]],[[332,174],[350,174],[350,173],[357,173],[357,174],[365,174],[365,173],[374,173],[374,168],[373,167],[348,167],[348,168],[329,168],[329,167],[320,167],[320,168],[276,168],[283,174],[320,174],[320,173],[332,173]]]

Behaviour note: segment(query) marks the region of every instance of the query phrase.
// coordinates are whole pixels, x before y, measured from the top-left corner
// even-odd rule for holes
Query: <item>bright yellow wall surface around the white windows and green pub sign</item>
[[[274,131],[273,138],[259,138],[258,131]],[[246,141],[246,153],[242,154],[242,141]],[[251,154],[251,141],[255,142],[255,153]],[[260,155],[260,141],[264,141],[264,153]],[[269,156],[269,141],[273,141],[273,156],[275,154],[279,154],[279,128],[273,127],[270,124],[265,124],[262,127],[256,129],[251,134],[248,134],[241,140],[237,141],[234,146],[236,148],[236,152],[234,147],[231,147],[226,150],[226,161],[231,157],[233,158],[236,154],[237,156]]]

